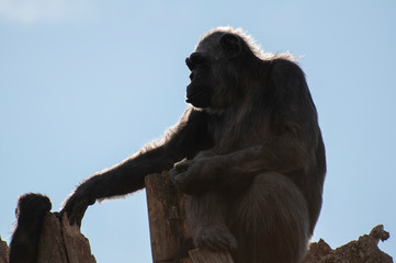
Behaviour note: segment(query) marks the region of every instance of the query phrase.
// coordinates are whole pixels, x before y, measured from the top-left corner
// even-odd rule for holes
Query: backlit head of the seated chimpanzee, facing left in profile
[[[195,107],[223,110],[246,93],[250,62],[257,60],[247,36],[227,27],[211,31],[185,59],[191,70],[186,102]]]

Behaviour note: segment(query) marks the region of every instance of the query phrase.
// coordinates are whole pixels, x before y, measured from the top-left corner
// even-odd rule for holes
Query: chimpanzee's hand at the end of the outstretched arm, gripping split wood
[[[78,227],[81,227],[81,219],[86,214],[87,207],[93,205],[94,202],[94,198],[89,197],[82,191],[77,188],[76,192],[66,201],[60,215],[66,213],[70,225],[77,224]]]

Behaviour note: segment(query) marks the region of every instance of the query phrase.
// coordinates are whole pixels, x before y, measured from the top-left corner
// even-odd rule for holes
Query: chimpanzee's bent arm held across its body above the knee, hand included
[[[222,187],[244,188],[260,172],[287,174],[305,171],[309,163],[307,145],[295,136],[283,135],[228,155],[186,160],[170,171],[172,181],[186,194]]]

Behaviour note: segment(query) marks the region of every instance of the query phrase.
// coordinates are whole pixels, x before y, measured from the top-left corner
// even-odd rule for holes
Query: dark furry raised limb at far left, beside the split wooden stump
[[[37,262],[37,249],[45,215],[52,204],[47,196],[25,194],[18,201],[18,225],[10,243],[10,263]]]

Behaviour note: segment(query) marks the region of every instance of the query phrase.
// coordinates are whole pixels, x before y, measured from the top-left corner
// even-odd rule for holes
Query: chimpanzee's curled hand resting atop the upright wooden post
[[[185,160],[169,171],[171,181],[185,194],[199,194],[214,187],[215,178],[207,158]]]

